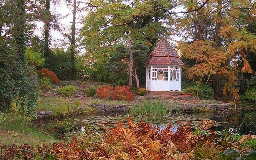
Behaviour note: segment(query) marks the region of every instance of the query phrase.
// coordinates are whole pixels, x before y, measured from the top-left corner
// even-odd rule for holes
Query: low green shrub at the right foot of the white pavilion
[[[214,90],[210,86],[198,85],[190,86],[189,88],[182,90],[182,94],[199,96],[201,99],[213,99]]]

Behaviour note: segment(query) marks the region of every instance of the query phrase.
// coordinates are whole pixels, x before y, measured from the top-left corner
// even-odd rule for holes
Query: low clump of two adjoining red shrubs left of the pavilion
[[[122,101],[134,100],[135,96],[129,86],[116,86],[113,88],[110,85],[99,86],[96,90],[96,95],[104,99]]]

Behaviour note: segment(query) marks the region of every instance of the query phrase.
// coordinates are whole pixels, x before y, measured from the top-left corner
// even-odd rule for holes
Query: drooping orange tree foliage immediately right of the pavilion
[[[237,96],[238,90],[233,88],[237,80],[237,71],[230,66],[230,54],[223,48],[214,47],[214,42],[196,40],[191,44],[182,45],[181,52],[188,60],[194,60],[196,64],[188,67],[186,77],[190,80],[201,82],[206,76],[218,75],[226,79],[223,94],[230,92]]]

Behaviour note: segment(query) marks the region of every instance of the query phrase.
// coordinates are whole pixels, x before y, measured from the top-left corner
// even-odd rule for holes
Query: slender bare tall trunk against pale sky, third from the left
[[[71,28],[71,46],[70,46],[70,60],[71,60],[71,78],[76,78],[76,68],[75,68],[75,52],[76,52],[76,0],[73,4],[73,21]]]

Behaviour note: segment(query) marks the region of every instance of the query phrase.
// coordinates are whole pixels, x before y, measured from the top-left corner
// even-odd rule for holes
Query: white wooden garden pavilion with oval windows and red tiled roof
[[[181,91],[181,66],[184,63],[165,38],[161,38],[146,64],[148,91]]]

